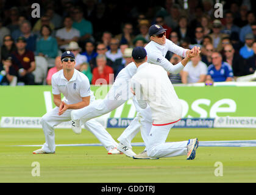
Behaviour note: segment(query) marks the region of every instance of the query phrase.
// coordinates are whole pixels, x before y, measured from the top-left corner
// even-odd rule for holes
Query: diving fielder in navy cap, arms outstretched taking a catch
[[[145,47],[148,54],[148,62],[155,63],[163,66],[166,71],[177,74],[183,69],[183,65],[178,63],[172,65],[165,55],[168,51],[174,52],[182,57],[186,57],[189,49],[183,49],[180,46],[172,43],[170,40],[166,40],[165,30],[160,25],[152,25],[149,28],[149,35],[151,36],[151,42]],[[194,49],[194,48],[193,48]],[[73,110],[71,112],[71,118],[74,121],[75,127],[72,127],[74,131],[80,131],[80,119],[91,119],[97,116],[104,115],[105,113],[111,112],[115,108],[124,104],[128,99],[132,98],[130,94],[130,79],[136,73],[137,67],[135,63],[130,63],[123,68],[115,79],[110,91],[102,101],[97,101],[94,104],[90,104],[88,107]],[[131,141],[133,137],[140,131],[144,142],[146,142],[147,135],[151,129],[152,118],[150,108],[141,109],[138,102],[133,98],[133,103],[137,109],[137,116],[130,123],[129,127],[122,133],[118,138],[120,142],[118,144],[118,150],[123,152],[129,157],[136,155],[132,151]]]

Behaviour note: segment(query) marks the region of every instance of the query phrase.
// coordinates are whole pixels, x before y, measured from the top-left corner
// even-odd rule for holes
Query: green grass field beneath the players
[[[123,129],[107,129],[118,138]],[[189,138],[200,141],[255,140],[256,129],[172,129],[167,141]],[[55,154],[32,154],[43,144],[41,129],[0,129],[0,182],[256,182],[256,147],[199,147],[194,160],[185,156],[158,160],[133,160],[126,155],[107,155],[101,146],[58,146]],[[99,143],[87,130],[55,130],[56,144]],[[133,142],[142,142],[137,135]],[[200,143],[199,143],[200,145]],[[134,146],[140,153],[144,147]],[[40,163],[40,176],[32,176],[32,162]],[[215,162],[223,176],[215,176]]]

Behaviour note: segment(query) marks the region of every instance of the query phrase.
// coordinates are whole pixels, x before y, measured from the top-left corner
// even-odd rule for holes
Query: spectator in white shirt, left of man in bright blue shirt
[[[205,82],[207,75],[207,65],[201,61],[201,56],[193,57],[180,73],[182,83],[201,83]]]

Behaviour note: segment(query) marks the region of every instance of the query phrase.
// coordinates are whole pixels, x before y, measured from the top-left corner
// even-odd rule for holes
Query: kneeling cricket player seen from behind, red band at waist
[[[185,66],[197,55],[191,51],[181,61]],[[146,50],[142,47],[134,48],[132,61],[137,66],[137,73],[132,77],[132,93],[136,96],[141,108],[148,105],[152,112],[152,128],[145,143],[147,152],[135,155],[133,158],[162,158],[187,155],[187,160],[196,157],[198,140],[178,141],[166,143],[169,130],[174,123],[182,118],[182,105],[163,67],[147,62]]]

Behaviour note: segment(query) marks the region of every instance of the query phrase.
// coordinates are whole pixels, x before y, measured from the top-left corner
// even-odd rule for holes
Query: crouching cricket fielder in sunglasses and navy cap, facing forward
[[[64,52],[61,60],[63,69],[52,76],[52,94],[56,107],[41,118],[46,142],[34,154],[55,153],[54,127],[61,122],[70,121],[73,109],[87,107],[95,99],[87,76],[74,68],[76,62],[73,52]],[[61,93],[65,101],[62,101]],[[99,122],[91,119],[84,126],[101,141],[108,154],[121,154],[116,149],[116,141]]]

